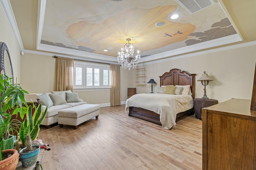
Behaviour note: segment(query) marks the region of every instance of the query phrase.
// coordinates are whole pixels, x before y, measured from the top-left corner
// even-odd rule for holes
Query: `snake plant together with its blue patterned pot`
[[[42,104],[36,108],[34,114],[32,115],[32,107],[29,106],[26,118],[21,124],[19,137],[22,142],[22,147],[19,151],[20,160],[23,167],[29,167],[36,163],[38,153],[40,151],[40,145],[33,145],[33,141],[36,140],[39,133],[39,125],[44,120],[48,107],[46,107],[44,113],[42,113]]]

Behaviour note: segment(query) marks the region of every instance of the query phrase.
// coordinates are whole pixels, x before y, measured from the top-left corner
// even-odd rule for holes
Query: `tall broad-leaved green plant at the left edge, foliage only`
[[[12,79],[5,74],[0,75],[0,160],[2,160],[3,141],[9,138],[9,132],[18,132],[21,124],[12,115],[20,115],[23,119],[27,111],[24,94],[28,94],[19,84],[12,84]]]

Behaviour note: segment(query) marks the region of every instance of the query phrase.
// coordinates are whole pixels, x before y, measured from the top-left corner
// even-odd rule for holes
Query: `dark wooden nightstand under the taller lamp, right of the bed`
[[[202,108],[218,104],[218,100],[214,99],[194,99],[194,111],[197,119],[202,120]]]

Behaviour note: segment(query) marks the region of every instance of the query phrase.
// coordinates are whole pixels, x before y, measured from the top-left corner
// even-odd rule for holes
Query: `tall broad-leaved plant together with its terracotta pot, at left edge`
[[[19,121],[11,119],[12,115],[20,114],[24,117],[26,113],[27,104],[24,98],[24,94],[28,94],[23,90],[19,84],[12,84],[12,79],[5,74],[0,75],[0,168],[6,167],[6,165],[12,163],[12,167],[9,169],[15,169],[18,164],[18,152],[13,149],[13,145],[10,147],[12,150],[4,150],[4,143],[9,139],[9,132],[18,131],[17,126]],[[25,106],[23,106],[25,105]],[[13,141],[12,139],[11,141]],[[3,153],[6,155],[12,154],[7,159],[2,160]]]

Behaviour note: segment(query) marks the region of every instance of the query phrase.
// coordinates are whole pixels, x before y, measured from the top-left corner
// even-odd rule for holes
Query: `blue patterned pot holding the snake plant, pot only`
[[[27,148],[25,147],[19,151],[20,161],[23,167],[29,167],[36,163],[37,156],[40,152],[40,145],[32,145],[32,146],[36,146],[38,147],[38,149],[33,150],[32,152],[22,153],[22,151]]]

